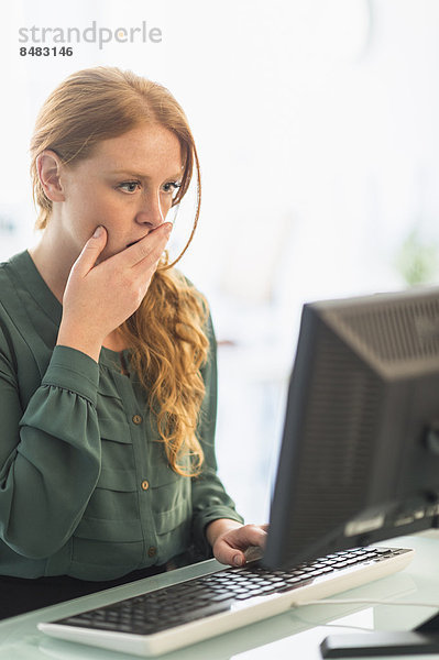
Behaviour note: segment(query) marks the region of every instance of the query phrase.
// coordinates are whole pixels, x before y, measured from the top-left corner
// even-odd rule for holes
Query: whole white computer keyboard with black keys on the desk
[[[404,569],[414,550],[354,548],[272,571],[259,561],[224,568],[81,612],[39,628],[53,637],[133,653],[162,653],[325,598]]]

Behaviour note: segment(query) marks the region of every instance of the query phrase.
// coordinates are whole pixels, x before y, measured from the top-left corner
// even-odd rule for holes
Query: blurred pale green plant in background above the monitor
[[[413,229],[396,254],[395,266],[408,286],[431,283],[438,271],[438,248]]]

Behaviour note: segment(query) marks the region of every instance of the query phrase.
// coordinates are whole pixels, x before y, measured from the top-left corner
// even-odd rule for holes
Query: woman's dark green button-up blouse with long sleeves
[[[28,252],[0,265],[0,574],[110,580],[191,546],[209,556],[206,525],[242,521],[217,476],[210,320],[190,479],[169,468],[129,360],[123,374],[114,351],[97,364],[55,345],[61,318]]]

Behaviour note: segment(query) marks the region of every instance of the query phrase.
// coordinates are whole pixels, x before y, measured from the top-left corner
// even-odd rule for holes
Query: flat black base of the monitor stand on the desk
[[[439,614],[407,632],[330,635],[320,645],[323,658],[425,656],[439,653]]]

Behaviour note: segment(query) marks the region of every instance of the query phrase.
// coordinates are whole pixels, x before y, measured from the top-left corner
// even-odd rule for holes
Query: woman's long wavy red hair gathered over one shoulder
[[[83,69],[66,78],[47,98],[31,140],[35,223],[44,229],[52,201],[40,182],[36,160],[54,151],[68,165],[86,160],[99,142],[122,135],[144,123],[156,123],[174,133],[180,144],[184,173],[173,201],[177,205],[196,169],[197,208],[190,237],[168,263],[164,252],[139,309],[120,327],[132,348],[131,361],[147,393],[147,404],[163,441],[167,460],[178,474],[199,474],[204,452],[196,435],[205,384],[208,308],[205,298],[174,265],[194,237],[200,208],[200,168],[186,116],[162,85],[116,67]]]

